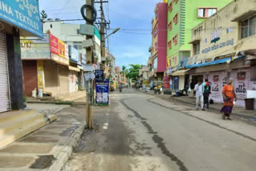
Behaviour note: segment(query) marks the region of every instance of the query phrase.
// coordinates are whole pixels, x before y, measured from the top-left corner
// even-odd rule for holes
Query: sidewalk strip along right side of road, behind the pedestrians
[[[195,98],[190,98],[187,96],[182,96],[182,97],[171,97],[169,94],[154,94],[154,91],[150,90],[147,92],[148,94],[161,97],[162,99],[165,99],[167,101],[178,101],[182,102],[185,104],[189,105],[195,105]],[[221,103],[214,103],[210,105],[210,110],[219,113],[220,109],[222,109],[222,104]],[[238,118],[241,118],[243,120],[248,120],[248,121],[256,121],[256,110],[246,110],[242,107],[235,106],[233,109],[232,114]]]

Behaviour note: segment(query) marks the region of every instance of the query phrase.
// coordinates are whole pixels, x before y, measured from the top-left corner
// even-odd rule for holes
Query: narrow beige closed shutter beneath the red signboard
[[[59,93],[69,93],[69,69],[58,65]]]

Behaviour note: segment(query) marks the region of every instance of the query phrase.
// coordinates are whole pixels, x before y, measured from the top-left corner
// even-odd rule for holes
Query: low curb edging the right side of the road
[[[147,92],[143,92],[143,93],[146,93],[146,94],[149,94],[151,96],[154,96],[154,95],[157,95],[157,94],[152,94],[152,93],[147,93]],[[166,101],[169,101],[169,100],[172,100],[172,101],[178,101],[178,102],[182,102],[184,104],[189,104],[189,105],[194,105],[194,103],[190,103],[190,102],[186,102],[186,101],[181,101],[181,100],[178,100],[178,99],[174,99],[172,97],[168,97],[167,99],[166,98],[162,98],[160,96],[157,96],[159,98],[161,98],[162,100],[166,100]],[[215,109],[215,108],[211,108],[209,109],[210,111],[213,111],[213,112],[218,112],[219,113],[219,110],[220,109]],[[218,114],[217,113],[217,114]],[[239,113],[232,113],[232,115],[234,117],[237,117],[238,119],[241,119],[242,121],[250,121],[250,122],[254,122],[256,121],[256,117],[250,117],[250,116],[246,116],[246,115],[242,115],[242,114],[239,114]]]

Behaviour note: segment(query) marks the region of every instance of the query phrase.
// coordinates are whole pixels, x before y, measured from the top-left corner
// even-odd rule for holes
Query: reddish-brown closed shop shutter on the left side
[[[32,90],[38,89],[37,61],[22,61],[24,95],[31,97]]]

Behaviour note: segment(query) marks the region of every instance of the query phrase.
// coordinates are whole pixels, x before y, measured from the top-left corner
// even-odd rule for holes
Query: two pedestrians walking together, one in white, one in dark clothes
[[[202,110],[204,109],[204,106],[206,105],[206,108],[209,109],[209,96],[210,96],[210,82],[208,82],[208,79],[205,79],[205,82],[202,82],[201,80],[194,86],[194,91],[196,92],[196,108],[199,109],[199,101],[200,101],[200,107]]]

